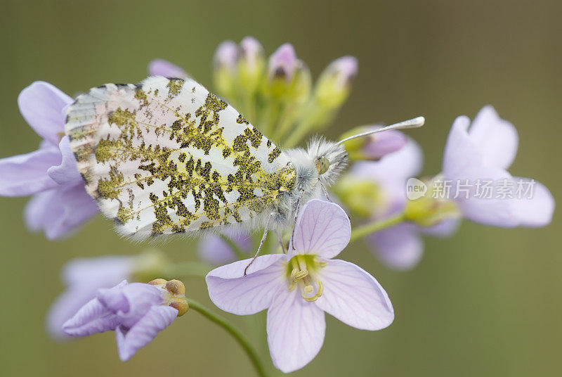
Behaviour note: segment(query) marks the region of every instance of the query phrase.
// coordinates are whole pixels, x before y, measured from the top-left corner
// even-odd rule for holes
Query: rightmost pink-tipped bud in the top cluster
[[[318,78],[316,101],[327,108],[339,108],[349,96],[357,66],[353,56],[343,56],[330,63]]]

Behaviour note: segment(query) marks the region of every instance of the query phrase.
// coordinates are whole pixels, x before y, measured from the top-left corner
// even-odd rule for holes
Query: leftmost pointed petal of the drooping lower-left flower
[[[100,300],[93,298],[63,324],[63,330],[69,336],[89,336],[115,330],[117,325],[117,316],[107,310]]]

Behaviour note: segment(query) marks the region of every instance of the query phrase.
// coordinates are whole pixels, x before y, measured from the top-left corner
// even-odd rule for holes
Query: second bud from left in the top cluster
[[[240,59],[238,59],[238,79],[241,89],[254,93],[261,82],[266,60],[263,47],[253,37],[244,37],[240,42]]]

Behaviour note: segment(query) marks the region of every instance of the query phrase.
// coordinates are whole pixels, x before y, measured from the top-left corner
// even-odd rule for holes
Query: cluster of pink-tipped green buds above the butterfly
[[[332,62],[313,85],[306,63],[291,44],[266,59],[252,37],[240,45],[224,41],[214,56],[217,94],[282,146],[296,146],[309,132],[318,132],[336,115],[351,91],[357,60],[344,56]]]

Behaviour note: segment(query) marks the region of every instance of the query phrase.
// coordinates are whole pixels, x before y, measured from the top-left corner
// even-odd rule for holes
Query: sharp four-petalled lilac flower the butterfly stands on
[[[334,203],[310,200],[295,224],[289,253],[262,255],[207,274],[209,296],[226,312],[247,315],[268,309],[268,345],[273,364],[288,373],[320,351],[325,314],[355,328],[379,330],[394,311],[373,276],[355,264],[332,260],[351,236],[346,212]],[[293,249],[294,246],[294,249]]]

